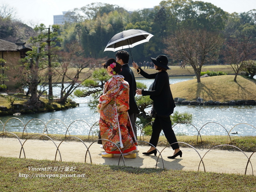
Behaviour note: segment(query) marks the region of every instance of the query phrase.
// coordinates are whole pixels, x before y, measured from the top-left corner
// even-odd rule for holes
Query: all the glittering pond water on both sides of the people
[[[192,76],[170,77],[170,84],[187,81],[192,78]],[[142,78],[136,79],[136,81],[142,82],[148,87],[154,82],[154,80]],[[58,94],[58,88],[54,88],[53,91],[54,95]],[[74,97],[72,100],[83,104],[80,104],[77,108],[63,111],[20,116],[0,116],[0,121],[2,122],[0,122],[0,130],[2,132],[5,124],[5,132],[22,132],[24,126],[28,123],[26,125],[27,132],[43,133],[44,124],[46,124],[48,132],[51,134],[65,134],[67,128],[71,135],[88,135],[91,128],[96,133],[99,127],[95,123],[99,121],[99,114],[92,113],[87,107],[86,102],[89,101],[89,98]],[[231,134],[231,136],[256,136],[256,128],[254,128],[256,127],[255,109],[255,106],[177,105],[174,111],[192,114],[192,124],[177,124],[173,127],[173,130],[177,134],[197,135],[202,128],[200,130],[201,135],[227,135],[227,132],[233,128],[231,132],[237,132],[238,134]],[[147,110],[149,111],[150,109]]]

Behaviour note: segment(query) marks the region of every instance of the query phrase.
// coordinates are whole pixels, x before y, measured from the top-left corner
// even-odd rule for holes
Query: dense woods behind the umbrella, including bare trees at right
[[[113,52],[103,52],[111,37],[135,28],[154,35],[150,43],[132,48],[137,62],[166,54],[171,64],[182,60],[191,65],[197,82],[205,64],[230,64],[234,81],[242,69],[250,68],[251,77],[255,74],[255,64],[248,67],[245,61],[255,60],[256,10],[228,13],[202,1],[169,0],[153,9],[133,12],[117,5],[92,3],[66,16],[76,22],[62,26],[63,43],[77,40],[85,57],[113,57]]]

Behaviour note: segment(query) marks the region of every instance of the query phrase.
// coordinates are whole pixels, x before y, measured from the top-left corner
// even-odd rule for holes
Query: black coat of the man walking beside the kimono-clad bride
[[[134,98],[134,96],[136,94],[137,86],[136,86],[136,81],[135,81],[135,77],[132,72],[132,69],[129,67],[128,64],[124,64],[124,65],[122,65],[122,71],[120,73],[118,73],[118,75],[124,76],[124,80],[127,81],[130,86],[130,91],[129,91],[129,107],[130,107],[130,109],[128,110],[128,113],[129,114],[139,113],[139,108],[138,108],[135,98]]]

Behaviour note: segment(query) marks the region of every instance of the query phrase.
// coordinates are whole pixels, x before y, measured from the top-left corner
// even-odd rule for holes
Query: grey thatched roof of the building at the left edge
[[[0,39],[0,51],[21,51],[21,52],[27,52],[32,50],[31,47],[26,46],[26,43],[12,43],[9,41],[5,41],[3,39]]]

